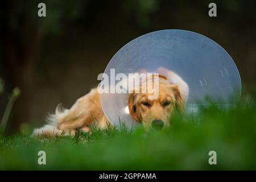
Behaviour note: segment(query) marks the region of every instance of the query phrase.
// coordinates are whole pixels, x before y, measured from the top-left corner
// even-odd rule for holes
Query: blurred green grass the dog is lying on
[[[46,151],[46,165],[38,151]],[[209,165],[208,152],[217,152]],[[26,135],[0,140],[0,169],[256,169],[256,104],[234,109],[214,106],[200,114],[171,119],[162,131],[93,129],[75,137],[36,139]]]

